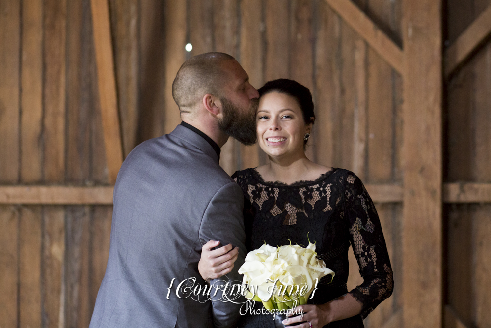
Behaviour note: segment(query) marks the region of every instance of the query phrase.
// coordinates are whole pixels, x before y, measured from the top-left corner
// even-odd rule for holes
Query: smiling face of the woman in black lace
[[[278,92],[263,95],[259,99],[256,123],[257,142],[266,154],[303,155],[303,138],[311,125],[305,124],[294,97]]]

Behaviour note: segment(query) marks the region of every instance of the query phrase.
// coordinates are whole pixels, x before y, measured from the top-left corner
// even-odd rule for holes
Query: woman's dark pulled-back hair
[[[302,110],[303,121],[305,122],[305,124],[314,123],[315,114],[312,94],[307,87],[302,86],[297,81],[289,79],[277,79],[268,81],[264,86],[259,88],[258,91],[260,97],[270,92],[283,93],[294,97],[295,100],[297,100],[300,109]]]

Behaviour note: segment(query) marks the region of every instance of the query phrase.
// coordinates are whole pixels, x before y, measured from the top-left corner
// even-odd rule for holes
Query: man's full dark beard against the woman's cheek
[[[223,118],[218,121],[220,130],[246,146],[255,144],[259,99],[252,99],[251,105],[245,112],[226,98],[220,98],[220,102],[223,106]]]

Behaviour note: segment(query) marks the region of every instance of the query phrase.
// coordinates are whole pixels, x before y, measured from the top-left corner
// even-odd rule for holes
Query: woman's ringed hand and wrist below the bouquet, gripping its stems
[[[322,305],[299,305],[293,309],[293,315],[296,313],[303,313],[303,316],[300,318],[300,315],[296,317],[290,317],[286,320],[283,320],[283,324],[291,325],[292,328],[322,328],[328,323],[331,322],[329,320],[329,303]]]

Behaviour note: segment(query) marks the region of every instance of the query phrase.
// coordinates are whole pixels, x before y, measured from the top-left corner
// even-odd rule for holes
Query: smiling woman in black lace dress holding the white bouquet
[[[336,275],[321,279],[304,316],[285,324],[298,328],[363,327],[366,317],[393,289],[392,269],[377,211],[353,172],[316,164],[305,155],[314,124],[310,91],[299,83],[279,79],[259,90],[257,140],[269,164],[237,171],[233,178],[244,197],[248,251],[267,244],[316,242],[318,257]],[[348,293],[350,242],[363,284]],[[228,273],[237,250],[227,245],[203,247],[199,263],[203,277]],[[256,304],[261,306],[261,304]],[[361,314],[361,315],[360,315]],[[274,327],[271,315],[246,315],[240,327]],[[304,322],[301,323],[300,322]]]

